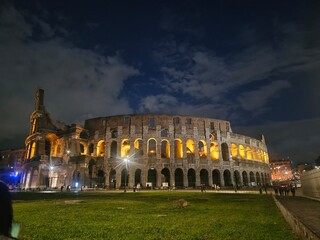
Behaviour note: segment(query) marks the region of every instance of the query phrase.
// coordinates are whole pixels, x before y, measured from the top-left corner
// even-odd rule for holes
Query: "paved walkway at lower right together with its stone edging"
[[[300,239],[320,239],[320,201],[303,196],[276,196],[275,200]]]

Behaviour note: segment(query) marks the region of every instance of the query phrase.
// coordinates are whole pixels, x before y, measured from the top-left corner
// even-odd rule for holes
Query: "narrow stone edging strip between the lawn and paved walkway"
[[[320,240],[320,238],[312,232],[307,226],[299,221],[292,213],[290,213],[276,198],[273,199],[282,213],[283,217],[289,223],[293,231],[298,235],[299,239],[302,240]]]

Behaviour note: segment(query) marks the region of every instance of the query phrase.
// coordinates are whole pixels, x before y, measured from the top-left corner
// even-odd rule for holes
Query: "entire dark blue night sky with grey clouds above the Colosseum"
[[[170,113],[231,121],[269,154],[320,155],[319,1],[1,1],[0,149],[34,92],[54,119]]]

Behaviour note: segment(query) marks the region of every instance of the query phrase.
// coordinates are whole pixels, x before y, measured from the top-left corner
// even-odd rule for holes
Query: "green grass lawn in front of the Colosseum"
[[[21,239],[297,239],[271,195],[21,192],[13,198]],[[188,206],[179,207],[179,199]]]

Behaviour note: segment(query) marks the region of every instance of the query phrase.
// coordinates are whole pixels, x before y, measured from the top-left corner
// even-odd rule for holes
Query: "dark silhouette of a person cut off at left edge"
[[[13,221],[12,200],[7,185],[0,181],[0,239],[11,237]]]

